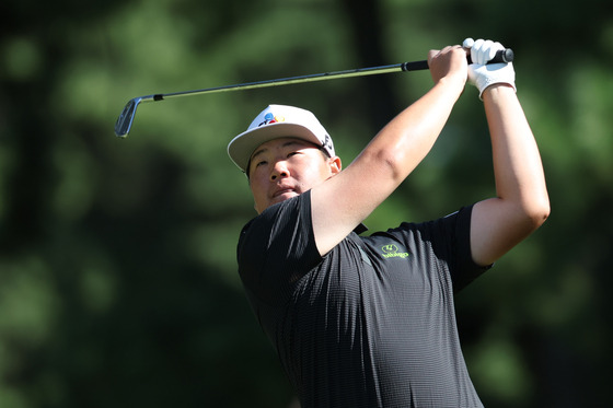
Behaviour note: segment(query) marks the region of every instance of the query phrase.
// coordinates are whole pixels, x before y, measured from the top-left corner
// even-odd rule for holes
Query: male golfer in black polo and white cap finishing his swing
[[[230,142],[258,213],[241,232],[239,272],[302,408],[483,406],[453,294],[550,213],[512,63],[485,65],[502,48],[467,38],[429,51],[432,88],[343,171],[329,135],[300,108],[270,105]],[[466,81],[485,106],[496,197],[360,236],[428,154]]]

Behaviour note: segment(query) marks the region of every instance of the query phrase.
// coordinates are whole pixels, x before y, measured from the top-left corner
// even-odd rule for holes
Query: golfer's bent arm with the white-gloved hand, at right
[[[539,148],[516,95],[512,65],[485,66],[501,47],[477,40],[469,78],[479,89],[491,137],[496,198],[477,202],[471,219],[471,252],[490,265],[528,237],[550,214]]]

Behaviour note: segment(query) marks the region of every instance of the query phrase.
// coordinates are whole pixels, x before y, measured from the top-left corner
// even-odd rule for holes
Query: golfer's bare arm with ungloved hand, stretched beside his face
[[[465,50],[428,55],[435,85],[390,121],[343,172],[311,193],[315,243],[324,255],[363,221],[428,154],[467,79]]]

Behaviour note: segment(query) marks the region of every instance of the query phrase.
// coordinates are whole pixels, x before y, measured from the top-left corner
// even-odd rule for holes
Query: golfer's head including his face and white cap
[[[268,106],[230,142],[228,154],[250,178],[258,213],[340,171],[327,131],[312,113],[292,106]]]

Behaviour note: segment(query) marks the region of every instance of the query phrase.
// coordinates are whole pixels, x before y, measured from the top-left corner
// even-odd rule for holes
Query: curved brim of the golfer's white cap
[[[246,173],[250,159],[255,149],[267,141],[280,138],[298,138],[317,145],[322,144],[320,139],[304,126],[282,121],[251,129],[236,136],[228,144],[228,155],[230,155],[230,159],[239,168]]]

